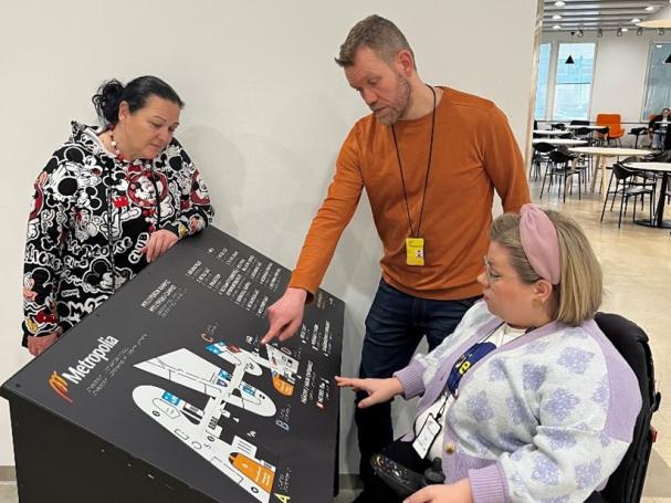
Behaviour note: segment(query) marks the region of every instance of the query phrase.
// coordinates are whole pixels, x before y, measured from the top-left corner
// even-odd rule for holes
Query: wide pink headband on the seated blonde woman
[[[553,285],[559,284],[559,237],[554,223],[536,205],[524,205],[520,210],[522,249],[536,274]]]

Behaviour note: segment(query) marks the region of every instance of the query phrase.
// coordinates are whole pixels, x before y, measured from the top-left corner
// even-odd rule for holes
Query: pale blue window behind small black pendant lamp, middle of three
[[[594,43],[559,44],[553,119],[570,120],[589,117],[594,52]],[[574,64],[566,64],[569,55]]]

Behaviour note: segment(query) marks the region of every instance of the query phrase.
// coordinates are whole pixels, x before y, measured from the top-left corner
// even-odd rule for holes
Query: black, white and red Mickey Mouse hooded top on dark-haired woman
[[[154,160],[128,166],[93,128],[73,122],[34,185],[22,344],[66,331],[133,279],[147,265],[140,250],[153,230],[181,239],[212,216],[207,187],[176,139]]]

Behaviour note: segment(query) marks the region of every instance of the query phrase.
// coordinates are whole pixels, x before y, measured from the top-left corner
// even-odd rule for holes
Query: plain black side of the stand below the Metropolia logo
[[[27,400],[11,400],[10,410],[21,502],[214,503]]]

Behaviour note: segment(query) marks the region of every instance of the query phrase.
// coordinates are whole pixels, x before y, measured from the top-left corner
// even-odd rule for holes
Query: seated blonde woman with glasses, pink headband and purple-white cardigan
[[[405,500],[581,502],[625,455],[641,407],[637,378],[594,322],[601,270],[583,230],[525,205],[491,229],[484,297],[433,352],[389,379],[337,378],[359,407],[421,396],[413,430],[385,454],[445,483]],[[400,501],[379,480],[359,502]]]

